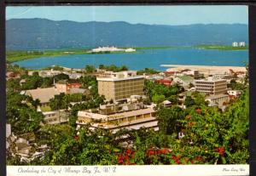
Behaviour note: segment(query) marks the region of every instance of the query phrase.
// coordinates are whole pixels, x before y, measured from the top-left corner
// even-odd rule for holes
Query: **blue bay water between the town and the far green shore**
[[[160,65],[230,65],[244,66],[248,62],[247,50],[214,50],[199,48],[144,49],[136,53],[83,54],[42,57],[22,60],[14,64],[40,69],[50,65],[84,68],[85,65],[127,65],[131,70],[154,68],[165,71]]]

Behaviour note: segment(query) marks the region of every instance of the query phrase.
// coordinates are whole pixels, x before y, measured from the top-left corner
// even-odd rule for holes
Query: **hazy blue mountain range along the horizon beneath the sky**
[[[231,45],[248,43],[243,24],[164,26],[114,22],[74,22],[46,19],[6,21],[7,50],[96,48],[99,46],[148,47]]]

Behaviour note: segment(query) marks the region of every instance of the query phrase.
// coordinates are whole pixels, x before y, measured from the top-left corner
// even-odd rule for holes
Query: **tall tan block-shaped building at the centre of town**
[[[144,77],[136,71],[108,72],[96,78],[98,93],[106,99],[121,100],[131,95],[143,95]]]

